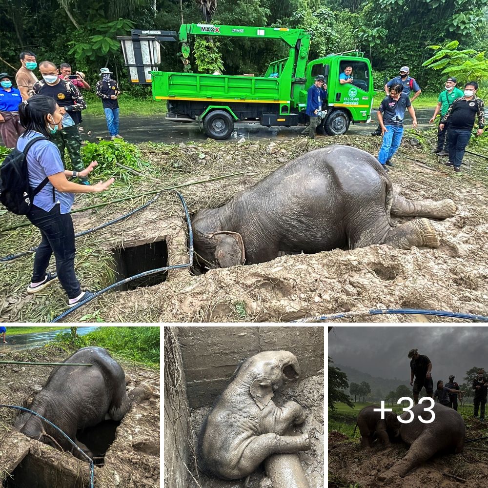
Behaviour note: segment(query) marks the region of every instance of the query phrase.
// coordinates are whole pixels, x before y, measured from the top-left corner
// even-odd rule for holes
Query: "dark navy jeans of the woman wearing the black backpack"
[[[49,259],[54,252],[61,286],[68,298],[76,298],[81,293],[81,286],[75,275],[75,231],[71,215],[62,214],[58,204],[49,212],[32,205],[27,218],[41,231],[42,236],[34,256],[32,283],[44,280]]]

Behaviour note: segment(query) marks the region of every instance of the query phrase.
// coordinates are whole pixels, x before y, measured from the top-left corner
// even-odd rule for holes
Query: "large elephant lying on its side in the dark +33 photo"
[[[419,420],[419,416],[425,420],[431,418],[431,414],[424,411],[426,405],[427,403],[412,407],[414,418],[408,424],[400,423],[396,415],[386,418],[387,428],[391,429],[395,436],[400,436],[410,448],[400,461],[378,477],[380,480],[392,480],[398,476],[403,478],[411,469],[425,463],[438,452],[457,454],[463,450],[466,438],[463,417],[452,408],[436,403],[432,408],[435,414],[434,421],[424,424]],[[407,420],[410,414],[405,412],[401,418]]]

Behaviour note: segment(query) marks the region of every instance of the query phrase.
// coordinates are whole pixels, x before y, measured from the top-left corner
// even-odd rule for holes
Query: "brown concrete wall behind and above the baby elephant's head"
[[[302,378],[317,374],[324,368],[324,330],[303,325],[179,327],[190,407],[212,405],[239,361],[261,351],[290,351]]]

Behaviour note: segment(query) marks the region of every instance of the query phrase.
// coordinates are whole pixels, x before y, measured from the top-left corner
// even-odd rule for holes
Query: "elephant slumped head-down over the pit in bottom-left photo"
[[[151,389],[146,385],[136,386],[127,395],[122,367],[102,347],[83,347],[63,363],[92,366],[56,366],[28,408],[59,427],[92,457],[77,442],[77,430],[96,426],[103,420],[122,420],[133,403],[151,396]],[[36,415],[22,413],[14,427],[32,439],[86,459],[57,429]]]

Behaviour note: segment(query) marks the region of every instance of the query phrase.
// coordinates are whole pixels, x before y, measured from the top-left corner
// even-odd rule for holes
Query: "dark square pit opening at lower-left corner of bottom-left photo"
[[[27,454],[2,485],[3,488],[85,488],[77,474],[66,471],[62,464]]]

